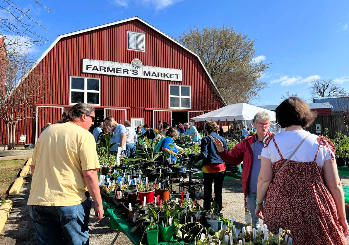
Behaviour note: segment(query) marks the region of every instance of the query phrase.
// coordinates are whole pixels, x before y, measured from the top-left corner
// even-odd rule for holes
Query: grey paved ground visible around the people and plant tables
[[[33,245],[36,244],[35,230],[29,216],[27,200],[30,190],[31,175],[24,178],[21,192],[11,196],[13,209],[0,235],[0,245]],[[349,185],[349,178],[343,178],[342,183]],[[244,219],[244,195],[242,193],[241,181],[238,179],[225,180],[223,183],[223,207],[222,213],[225,217],[235,217],[235,225],[241,228],[245,225]],[[202,200],[199,200],[202,206]],[[90,213],[90,245],[111,244],[116,231],[110,229],[109,218],[103,218],[101,222],[93,222],[94,211]],[[347,211],[349,217],[349,211]],[[349,241],[349,239],[347,239]],[[131,241],[120,233],[117,243],[131,245]],[[349,244],[349,242],[348,242]]]

